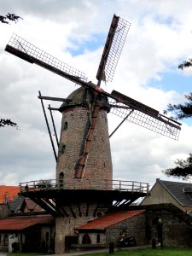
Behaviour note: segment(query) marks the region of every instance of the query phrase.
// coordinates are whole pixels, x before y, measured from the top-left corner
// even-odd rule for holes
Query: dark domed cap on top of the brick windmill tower
[[[73,108],[77,106],[87,108],[89,103],[91,103],[94,99],[94,92],[93,90],[89,90],[84,87],[80,87],[77,90],[73,90],[73,92],[67,96],[67,99],[70,102],[63,102],[59,111],[62,113],[64,109]],[[108,98],[102,94],[97,95],[97,103],[99,104],[100,108],[109,108]]]

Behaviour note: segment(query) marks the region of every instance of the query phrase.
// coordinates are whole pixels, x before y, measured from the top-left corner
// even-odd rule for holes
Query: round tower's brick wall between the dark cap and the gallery
[[[90,189],[92,185],[97,189],[106,189],[107,185],[108,189],[111,189],[110,181],[113,178],[113,170],[108,137],[108,119],[105,110],[100,110],[96,119],[96,128],[83,182],[73,178],[74,167],[79,160],[83,138],[86,135],[84,131],[87,131],[88,119],[90,119],[90,113],[86,108],[70,108],[63,112],[56,179],[60,183],[61,177],[63,178],[64,189],[78,189],[82,186],[84,189]],[[106,183],[106,180],[109,182]]]

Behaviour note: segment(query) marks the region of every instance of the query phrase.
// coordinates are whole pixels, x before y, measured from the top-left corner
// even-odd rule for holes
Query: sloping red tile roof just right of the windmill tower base
[[[114,224],[119,224],[128,218],[143,214],[145,210],[113,212],[96,218],[87,224],[79,226],[77,230],[106,230]]]

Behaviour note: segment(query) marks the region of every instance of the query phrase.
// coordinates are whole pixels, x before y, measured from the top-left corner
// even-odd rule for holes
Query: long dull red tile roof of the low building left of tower
[[[0,220],[0,230],[24,230],[35,224],[53,223],[55,218],[52,216],[30,216],[14,217]]]

